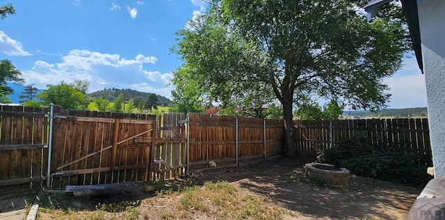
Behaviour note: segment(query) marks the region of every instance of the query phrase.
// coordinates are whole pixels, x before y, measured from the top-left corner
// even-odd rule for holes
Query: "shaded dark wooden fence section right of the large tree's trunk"
[[[427,118],[296,120],[294,125],[293,139],[302,155],[316,155],[357,132],[366,132],[374,143],[414,148],[431,155]]]

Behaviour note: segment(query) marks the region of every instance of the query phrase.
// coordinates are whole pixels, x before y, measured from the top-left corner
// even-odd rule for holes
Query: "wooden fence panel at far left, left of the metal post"
[[[47,110],[0,106],[0,186],[42,181],[47,170]]]

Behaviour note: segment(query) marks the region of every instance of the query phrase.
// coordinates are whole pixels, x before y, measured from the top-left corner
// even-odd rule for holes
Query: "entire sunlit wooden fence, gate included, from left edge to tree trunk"
[[[163,180],[209,161],[224,166],[282,153],[280,120],[0,108],[0,186]]]

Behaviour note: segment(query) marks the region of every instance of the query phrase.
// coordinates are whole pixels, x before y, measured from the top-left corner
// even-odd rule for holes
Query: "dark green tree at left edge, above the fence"
[[[8,82],[24,83],[24,79],[20,78],[20,74],[22,72],[17,70],[10,60],[0,61],[0,95],[13,94],[13,88],[8,86]]]

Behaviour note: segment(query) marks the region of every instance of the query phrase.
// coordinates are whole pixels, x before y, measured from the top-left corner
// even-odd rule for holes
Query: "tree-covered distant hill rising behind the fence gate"
[[[89,93],[88,95],[92,97],[93,99],[103,98],[110,102],[113,102],[116,97],[118,97],[120,94],[124,94],[124,101],[128,101],[131,98],[141,97],[143,100],[147,100],[149,95],[152,95],[154,93],[145,93],[140,91],[135,91],[130,88],[120,89],[120,88],[104,88],[102,91],[96,91],[94,93]],[[155,94],[156,95],[156,94]],[[171,100],[168,98],[156,95],[158,97],[158,104],[159,106],[170,106],[172,103]]]

